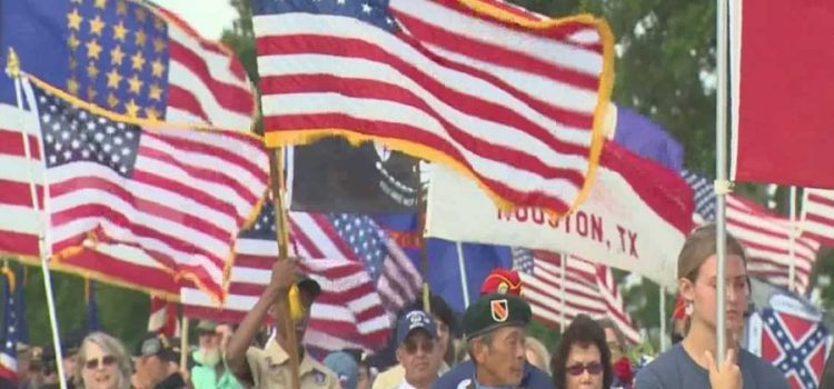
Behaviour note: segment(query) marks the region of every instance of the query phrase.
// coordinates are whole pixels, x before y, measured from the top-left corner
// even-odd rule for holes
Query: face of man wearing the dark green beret
[[[524,377],[526,333],[523,327],[507,326],[492,332],[492,340],[484,336],[474,340],[474,355],[478,379],[488,386],[518,386]]]

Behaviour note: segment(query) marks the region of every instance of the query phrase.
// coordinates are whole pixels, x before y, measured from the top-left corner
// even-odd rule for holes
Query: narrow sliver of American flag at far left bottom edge
[[[0,380],[16,382],[18,380],[18,341],[20,326],[23,322],[19,317],[16,300],[14,273],[8,268],[3,269],[3,328],[0,332]]]

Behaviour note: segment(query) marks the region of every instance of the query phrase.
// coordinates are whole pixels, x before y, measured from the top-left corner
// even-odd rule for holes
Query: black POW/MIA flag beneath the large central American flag
[[[413,212],[418,160],[381,144],[342,138],[297,146],[290,209],[302,212]]]

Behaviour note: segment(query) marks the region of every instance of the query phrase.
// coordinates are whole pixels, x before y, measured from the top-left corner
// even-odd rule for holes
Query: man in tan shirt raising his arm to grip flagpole
[[[298,289],[300,305],[304,307],[301,317],[290,328],[279,326],[278,333],[267,341],[264,349],[250,347],[267,312],[271,310],[277,313],[285,308],[286,300],[281,297],[289,296],[294,285]],[[272,266],[269,286],[267,286],[258,302],[255,303],[255,307],[246,313],[246,318],[231,336],[226,349],[228,367],[240,383],[257,388],[289,388],[292,372],[286,350],[295,346],[298,348],[298,375],[301,389],[339,388],[336,375],[312,359],[300,343],[307,330],[310,307],[320,292],[321,287],[318,282],[297,272],[295,260],[280,260]],[[281,320],[276,320],[276,322],[280,323]],[[298,345],[289,345],[287,341],[289,331],[295,331]]]

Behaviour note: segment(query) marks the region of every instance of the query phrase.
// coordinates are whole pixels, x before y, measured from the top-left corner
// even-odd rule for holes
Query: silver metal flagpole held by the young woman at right
[[[716,255],[718,259],[718,271],[716,275],[716,296],[715,296],[715,359],[718,365],[724,361],[727,347],[725,331],[725,298],[726,298],[726,278],[725,267],[727,262],[726,250],[726,194],[729,191],[729,181],[727,181],[727,87],[728,74],[727,67],[727,0],[717,0],[717,20],[716,20],[716,74],[717,88],[715,98],[715,159],[716,159]]]

